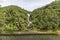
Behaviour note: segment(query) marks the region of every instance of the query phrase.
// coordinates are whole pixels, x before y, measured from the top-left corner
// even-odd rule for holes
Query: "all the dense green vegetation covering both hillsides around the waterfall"
[[[30,14],[30,27],[27,28],[27,14]],[[28,12],[18,6],[0,7],[0,32],[28,30],[59,30],[60,1]]]

